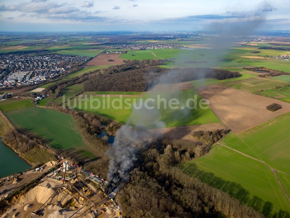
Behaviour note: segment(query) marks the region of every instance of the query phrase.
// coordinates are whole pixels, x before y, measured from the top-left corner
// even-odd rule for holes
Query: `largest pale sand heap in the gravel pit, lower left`
[[[46,200],[55,192],[52,188],[49,188],[48,186],[49,184],[34,187],[26,195],[24,195],[23,199],[20,200],[20,202],[24,203],[37,200],[37,202],[44,204]]]

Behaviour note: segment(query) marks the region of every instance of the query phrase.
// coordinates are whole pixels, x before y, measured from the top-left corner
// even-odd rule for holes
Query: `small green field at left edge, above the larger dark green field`
[[[0,110],[2,112],[8,112],[12,110],[19,110],[22,108],[33,107],[31,99],[10,98],[4,101],[0,101]]]

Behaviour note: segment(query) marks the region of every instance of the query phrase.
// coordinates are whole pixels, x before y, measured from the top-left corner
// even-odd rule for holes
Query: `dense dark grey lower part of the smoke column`
[[[123,125],[115,134],[111,149],[107,152],[110,158],[108,184],[105,193],[117,192],[128,179],[128,173],[133,168],[137,149],[146,147],[149,143],[162,137],[161,134],[148,131],[148,127],[164,128],[158,111],[150,114],[146,108],[133,110],[126,125]]]

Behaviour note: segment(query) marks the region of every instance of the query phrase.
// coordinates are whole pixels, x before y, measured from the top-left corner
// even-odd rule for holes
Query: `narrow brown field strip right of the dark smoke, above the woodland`
[[[217,129],[226,129],[222,123],[209,123],[202,125],[193,125],[193,126],[178,126],[178,127],[169,127],[162,129],[154,129],[151,130],[153,132],[162,133],[163,136],[167,138],[174,139],[185,139],[190,141],[198,141],[196,138],[192,136],[195,131],[213,131]]]

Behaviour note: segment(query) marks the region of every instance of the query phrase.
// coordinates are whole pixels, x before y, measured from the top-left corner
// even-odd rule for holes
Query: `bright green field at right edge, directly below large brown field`
[[[222,140],[222,143],[263,160],[275,169],[290,173],[290,165],[288,164],[290,114],[288,113],[288,116],[286,114],[282,118],[264,128],[256,129],[252,134],[241,134],[239,137],[231,132]]]

